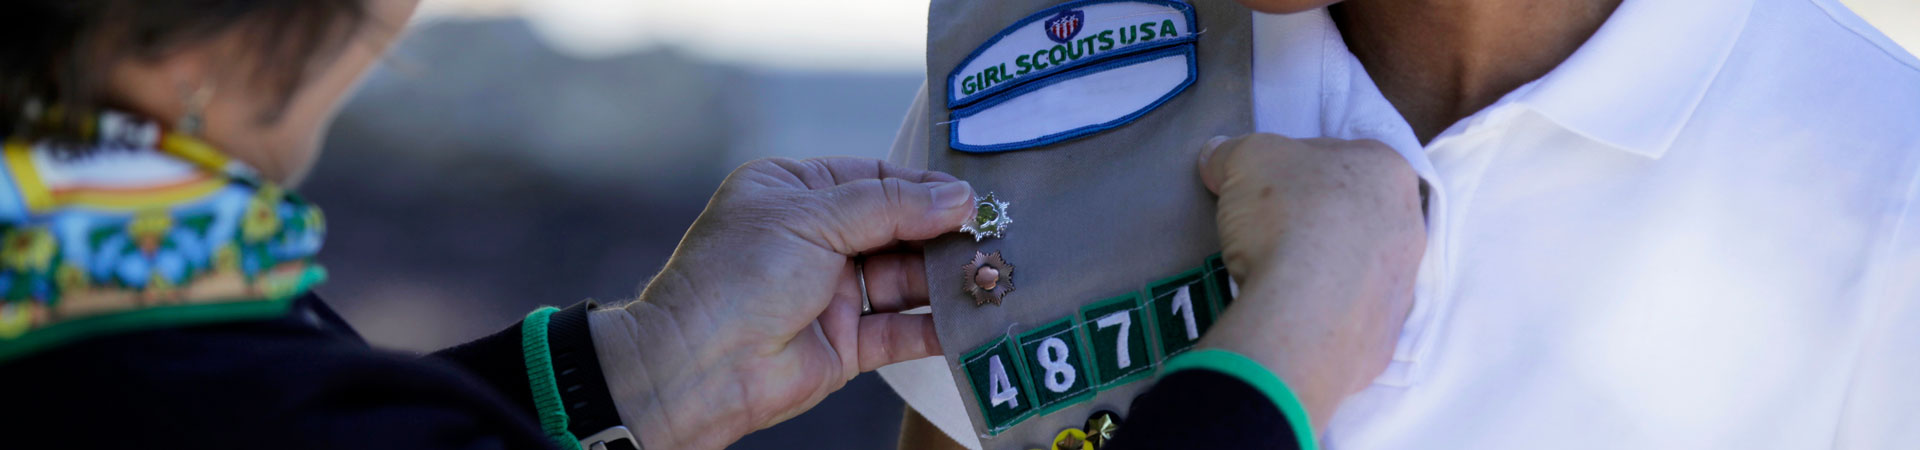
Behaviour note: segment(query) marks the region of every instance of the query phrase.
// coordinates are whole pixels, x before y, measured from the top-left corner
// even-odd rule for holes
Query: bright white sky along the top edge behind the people
[[[1920,0],[1841,2],[1908,52],[1920,48]],[[582,58],[670,44],[806,71],[920,71],[927,31],[925,0],[426,0],[420,8],[422,19],[513,13]]]

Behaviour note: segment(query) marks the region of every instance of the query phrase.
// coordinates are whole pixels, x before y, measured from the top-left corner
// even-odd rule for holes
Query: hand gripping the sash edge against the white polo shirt
[[[1323,427],[1392,360],[1427,248],[1419,177],[1377,140],[1215,138],[1200,177],[1240,296],[1200,340],[1277,373]]]

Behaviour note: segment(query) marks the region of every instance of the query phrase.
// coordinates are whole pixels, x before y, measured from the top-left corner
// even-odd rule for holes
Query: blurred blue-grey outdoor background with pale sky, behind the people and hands
[[[1845,0],[1920,50],[1920,0]],[[924,75],[925,0],[426,0],[301,188],[321,292],[426,352],[532,308],[632,298],[726,173],[885,158]],[[733,448],[893,448],[868,373]]]

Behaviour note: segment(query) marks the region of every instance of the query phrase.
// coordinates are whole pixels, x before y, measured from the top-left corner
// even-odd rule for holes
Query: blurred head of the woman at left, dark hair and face
[[[0,6],[0,135],[77,140],[98,110],[169,127],[198,121],[205,140],[294,183],[417,4],[10,0]]]

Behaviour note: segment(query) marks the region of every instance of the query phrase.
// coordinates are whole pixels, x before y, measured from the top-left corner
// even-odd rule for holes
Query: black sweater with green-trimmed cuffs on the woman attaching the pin
[[[415,358],[367,346],[317,296],[282,319],[6,362],[0,398],[0,448],[553,448],[534,421],[518,323]],[[1125,417],[1108,448],[1292,448],[1271,402],[1213,371],[1169,375]]]

